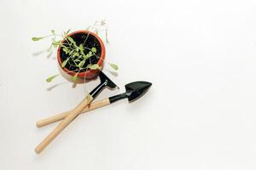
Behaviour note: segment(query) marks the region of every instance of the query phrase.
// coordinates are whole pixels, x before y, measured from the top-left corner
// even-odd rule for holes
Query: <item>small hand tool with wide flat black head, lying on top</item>
[[[44,148],[53,140],[55,137],[62,132],[62,130],[67,127],[67,125],[73,121],[73,119],[76,116],[79,116],[80,112],[83,111],[83,109],[90,104],[90,102],[96,98],[97,94],[100,94],[102,92],[103,88],[116,88],[117,85],[114,84],[106,75],[102,73],[102,71],[99,73],[99,77],[101,79],[101,83],[94,88],[90,94],[88,94],[84,100],[66,116],[61,123],[55,127],[55,129],[49,133],[49,135],[40,143],[35,149],[36,153],[40,153]]]

